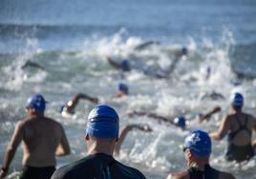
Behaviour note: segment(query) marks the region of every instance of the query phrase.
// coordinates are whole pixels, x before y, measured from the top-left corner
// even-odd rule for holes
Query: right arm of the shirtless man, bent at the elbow
[[[59,145],[55,151],[56,156],[65,156],[65,155],[70,154],[69,141],[68,141],[66,133],[62,127],[61,127],[61,133],[62,133],[62,137],[61,137]]]

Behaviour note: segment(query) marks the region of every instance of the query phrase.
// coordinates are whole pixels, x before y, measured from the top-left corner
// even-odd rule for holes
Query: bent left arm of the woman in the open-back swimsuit
[[[211,132],[209,136],[214,140],[222,140],[230,129],[229,119],[225,117],[220,128],[217,131]]]

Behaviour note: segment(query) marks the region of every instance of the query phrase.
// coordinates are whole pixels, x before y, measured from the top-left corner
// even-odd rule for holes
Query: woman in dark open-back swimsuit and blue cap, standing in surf
[[[210,133],[210,137],[215,140],[221,140],[228,135],[225,154],[228,161],[242,162],[254,156],[252,130],[256,131],[256,119],[242,111],[243,105],[243,95],[234,93],[231,97],[231,113],[224,117],[218,131]]]

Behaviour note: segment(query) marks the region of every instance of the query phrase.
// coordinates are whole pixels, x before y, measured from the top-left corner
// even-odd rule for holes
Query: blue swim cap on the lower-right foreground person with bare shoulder
[[[189,149],[198,156],[209,156],[211,153],[211,139],[206,132],[193,130],[186,136],[183,148]]]

